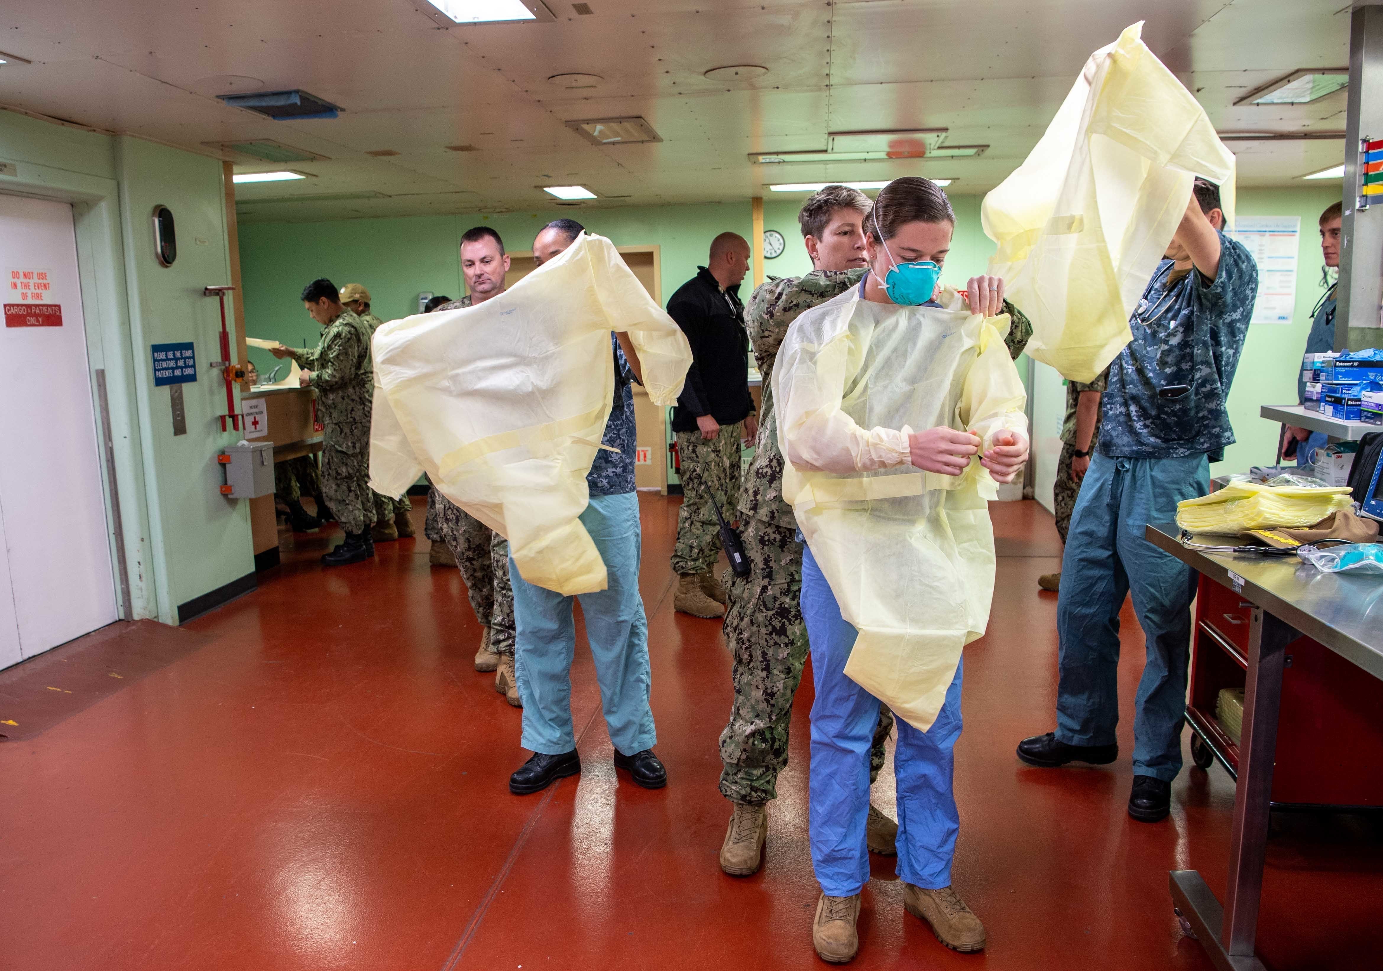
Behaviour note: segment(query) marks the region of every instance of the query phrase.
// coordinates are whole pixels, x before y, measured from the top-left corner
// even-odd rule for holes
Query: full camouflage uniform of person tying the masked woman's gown
[[[763,804],[777,795],[777,775],[787,765],[792,696],[802,681],[808,639],[802,622],[802,544],[792,506],[783,499],[783,454],[773,412],[773,362],[783,336],[797,317],[859,284],[864,270],[817,270],[806,277],[777,279],[750,297],[745,322],[754,358],[763,375],[763,404],[754,461],[744,473],[740,519],[744,553],[751,573],[730,578],[730,609],[725,640],[733,656],[734,701],[730,722],[721,733],[721,793],[734,802]],[[1005,343],[1018,357],[1032,336],[1032,324],[1011,304]],[[884,766],[884,743],[893,714],[880,705],[870,782]]]

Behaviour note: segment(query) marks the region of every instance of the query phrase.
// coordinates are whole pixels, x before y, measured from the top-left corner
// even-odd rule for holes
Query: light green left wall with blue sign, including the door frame
[[[216,452],[238,436],[213,426],[225,393],[206,367],[220,357],[220,315],[202,288],[230,282],[220,162],[4,111],[0,159],[18,166],[0,177],[0,192],[72,203],[89,367],[108,386],[130,616],[176,622],[178,604],[253,571],[248,505],[219,492]],[[154,259],[156,202],[177,220],[169,268]],[[174,340],[196,344],[199,367],[184,389],[188,433],[178,437],[149,358],[151,343]],[[109,512],[104,463],[101,476]],[[111,539],[115,555],[113,531]]]

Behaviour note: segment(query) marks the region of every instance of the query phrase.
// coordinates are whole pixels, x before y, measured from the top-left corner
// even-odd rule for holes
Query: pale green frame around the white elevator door
[[[0,194],[65,202],[72,206],[76,232],[77,277],[86,321],[87,382],[93,429],[101,455],[101,491],[105,499],[106,546],[115,578],[115,600],[122,620],[158,618],[159,600],[167,599],[159,582],[151,542],[145,450],[140,420],[140,393],[131,343],[129,292],[124,277],[124,242],[119,183],[66,169],[17,162],[18,174],[0,178]],[[97,394],[95,372],[105,371],[105,408]],[[119,495],[113,515],[109,463],[105,461],[102,412],[111,422],[111,443]],[[122,524],[124,562],[120,562],[112,523]],[[126,602],[123,586],[129,585]],[[160,588],[162,598],[160,598]]]

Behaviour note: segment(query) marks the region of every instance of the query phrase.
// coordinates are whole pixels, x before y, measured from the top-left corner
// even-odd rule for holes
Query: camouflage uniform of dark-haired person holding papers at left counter
[[[375,517],[369,491],[369,414],[375,394],[369,328],[350,310],[325,326],[313,350],[288,349],[317,389],[322,436],[322,492],[347,533],[362,533]]]

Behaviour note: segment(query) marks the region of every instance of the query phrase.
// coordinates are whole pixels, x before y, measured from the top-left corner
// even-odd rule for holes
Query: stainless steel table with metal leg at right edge
[[[1224,906],[1195,870],[1173,870],[1170,882],[1178,913],[1217,968],[1265,971],[1253,949],[1268,841],[1283,649],[1306,635],[1383,678],[1383,582],[1377,577],[1319,573],[1296,557],[1187,549],[1171,523],[1149,524],[1147,535],[1153,545],[1253,603]],[[1199,541],[1228,545],[1225,537]]]

